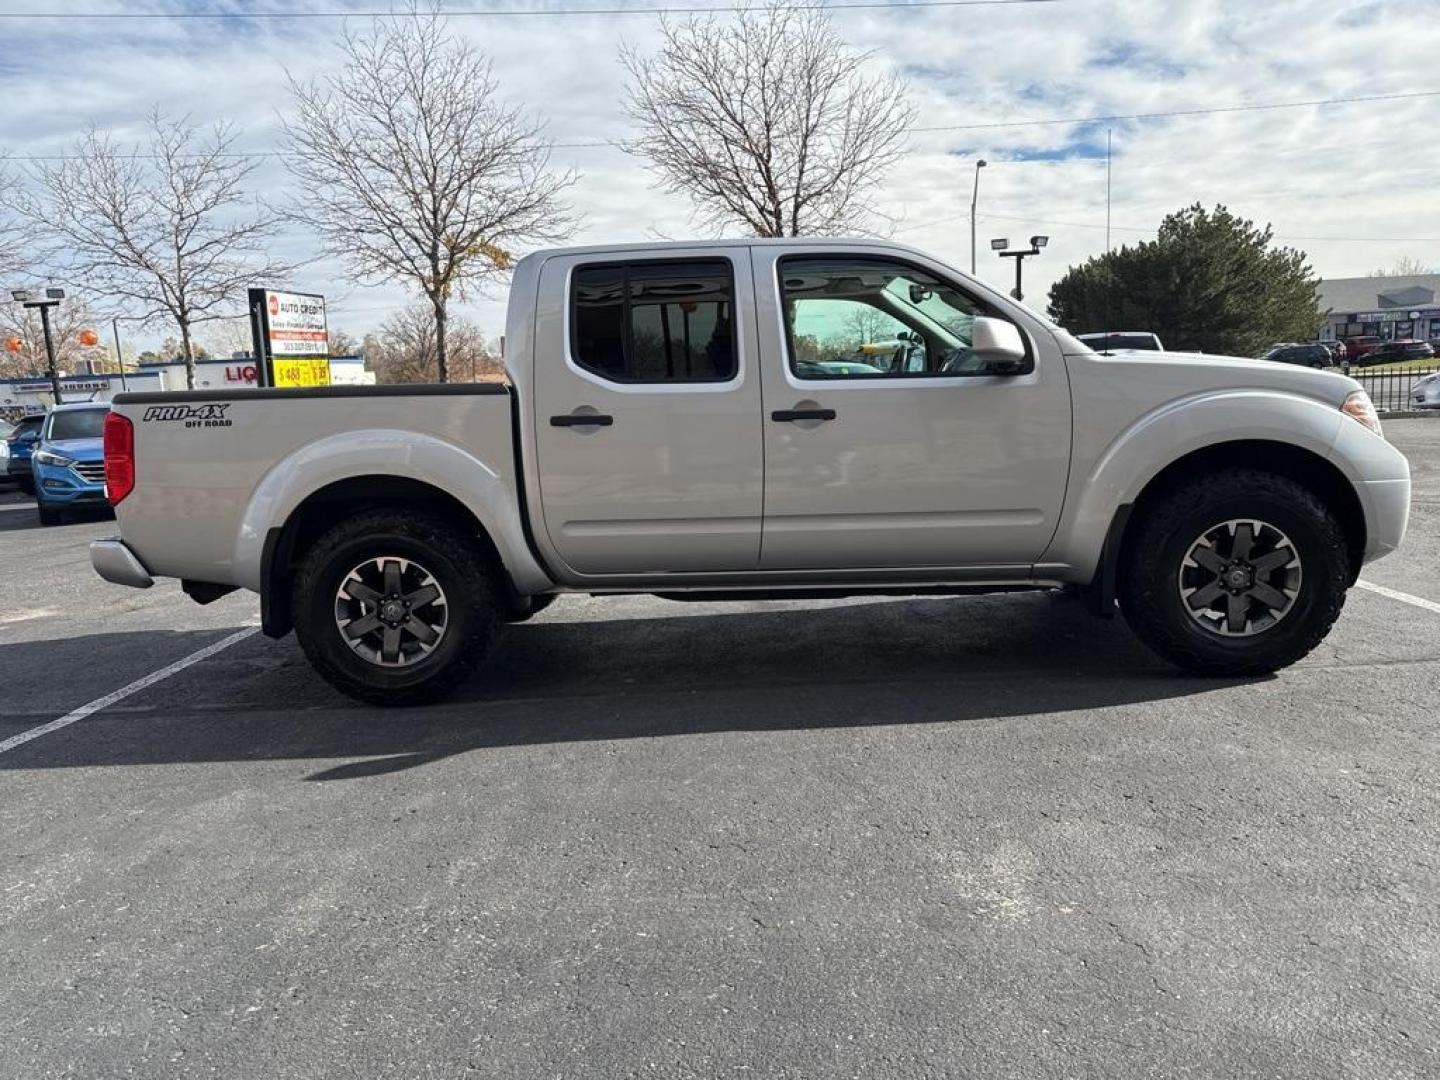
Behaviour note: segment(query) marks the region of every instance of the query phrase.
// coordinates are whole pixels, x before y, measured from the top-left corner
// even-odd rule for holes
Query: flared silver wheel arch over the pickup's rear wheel
[[[521,593],[550,586],[526,543],[523,507],[511,462],[485,462],[462,446],[413,431],[369,428],[307,444],[282,458],[255,487],[235,540],[238,583],[261,590],[265,537],[330,484],[354,477],[405,477],[462,503],[490,534]]]

